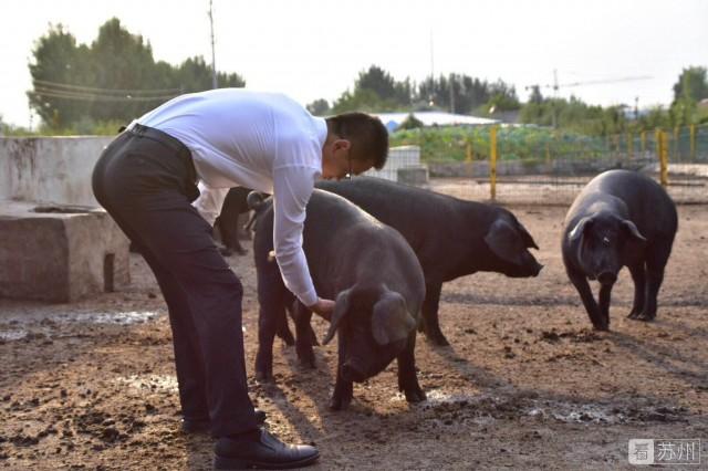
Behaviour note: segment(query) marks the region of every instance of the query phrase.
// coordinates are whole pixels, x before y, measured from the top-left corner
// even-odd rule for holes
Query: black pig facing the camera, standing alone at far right
[[[628,170],[593,178],[565,217],[565,271],[593,326],[610,328],[610,294],[623,266],[634,280],[629,318],[652,321],[678,228],[676,206],[656,181]],[[595,302],[587,280],[600,282]]]

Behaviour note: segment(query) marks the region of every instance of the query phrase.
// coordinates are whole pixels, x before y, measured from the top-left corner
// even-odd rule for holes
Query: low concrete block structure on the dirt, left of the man
[[[129,283],[128,240],[103,209],[0,201],[0,297],[72,302]]]

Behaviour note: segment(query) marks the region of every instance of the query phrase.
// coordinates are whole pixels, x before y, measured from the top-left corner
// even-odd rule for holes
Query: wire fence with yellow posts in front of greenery
[[[677,203],[708,203],[708,125],[605,137],[520,129],[458,127],[442,143],[429,135],[441,129],[417,129],[403,144],[419,146],[431,189],[462,199],[570,205],[597,174],[625,168],[662,182]]]

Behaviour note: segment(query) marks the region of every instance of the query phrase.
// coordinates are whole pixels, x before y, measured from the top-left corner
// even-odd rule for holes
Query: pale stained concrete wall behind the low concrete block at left
[[[98,206],[91,174],[113,137],[0,138],[0,200]]]

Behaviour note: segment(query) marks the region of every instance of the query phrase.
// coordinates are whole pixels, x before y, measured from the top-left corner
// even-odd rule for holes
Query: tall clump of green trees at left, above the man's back
[[[115,18],[100,28],[91,46],[76,44],[61,24],[51,25],[35,43],[30,73],[30,106],[54,133],[117,127],[180,93],[211,88],[211,69],[202,57],[178,66],[155,62],[149,43]],[[244,85],[236,73],[219,73],[218,81]]]

